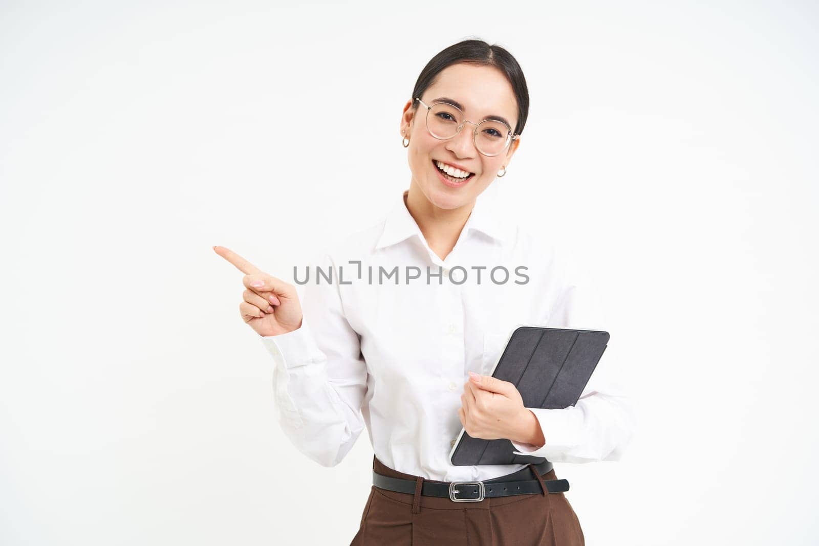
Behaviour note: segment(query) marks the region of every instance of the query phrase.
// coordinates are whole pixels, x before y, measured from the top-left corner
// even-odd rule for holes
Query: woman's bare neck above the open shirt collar
[[[404,203],[427,245],[441,259],[446,259],[455,247],[475,205],[473,201],[457,209],[441,209],[433,205],[414,184],[410,184]]]

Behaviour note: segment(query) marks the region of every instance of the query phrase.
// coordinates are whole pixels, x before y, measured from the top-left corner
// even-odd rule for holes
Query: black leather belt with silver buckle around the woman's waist
[[[543,475],[552,469],[550,461],[535,465],[538,475]],[[541,483],[537,480],[527,480],[532,476],[531,467],[525,467],[486,481],[435,481],[424,480],[421,485],[421,494],[427,497],[449,497],[456,503],[480,502],[487,497],[507,497],[515,494],[543,494]],[[567,480],[544,480],[543,484],[550,493],[568,491]],[[373,470],[373,485],[382,490],[396,491],[397,493],[415,494],[415,480],[393,478],[378,474]]]

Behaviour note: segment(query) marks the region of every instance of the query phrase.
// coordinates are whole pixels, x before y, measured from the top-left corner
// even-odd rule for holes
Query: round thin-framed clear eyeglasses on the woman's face
[[[464,112],[458,107],[446,102],[435,102],[428,106],[419,97],[416,101],[423,104],[427,109],[427,130],[429,134],[438,140],[449,140],[464,129],[464,124],[473,124],[475,131],[472,139],[475,142],[477,151],[484,156],[497,156],[504,151],[509,142],[512,142],[520,135],[513,134],[509,125],[498,120],[483,120],[476,124],[469,120],[464,120]]]

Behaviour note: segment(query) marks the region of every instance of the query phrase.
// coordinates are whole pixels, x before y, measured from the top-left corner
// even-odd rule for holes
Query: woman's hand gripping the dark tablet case
[[[518,389],[509,381],[470,372],[461,404],[458,417],[473,438],[525,441],[524,431],[530,422],[527,414],[532,412],[523,406]]]

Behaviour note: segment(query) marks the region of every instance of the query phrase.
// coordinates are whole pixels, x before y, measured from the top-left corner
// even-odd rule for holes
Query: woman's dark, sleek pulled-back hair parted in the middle
[[[526,78],[523,77],[518,61],[511,53],[499,45],[490,45],[483,40],[464,40],[446,47],[427,63],[421,70],[415,88],[412,91],[413,110],[417,111],[419,102],[415,97],[421,97],[429,86],[435,83],[438,74],[449,65],[467,64],[476,66],[494,66],[509,80],[518,102],[518,124],[513,133],[523,133],[523,126],[529,115],[529,90],[526,87]]]

